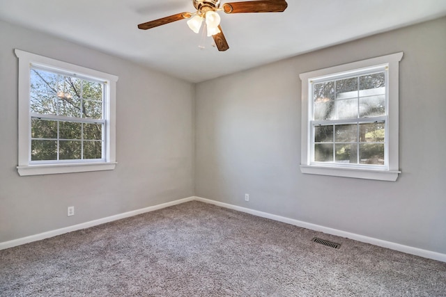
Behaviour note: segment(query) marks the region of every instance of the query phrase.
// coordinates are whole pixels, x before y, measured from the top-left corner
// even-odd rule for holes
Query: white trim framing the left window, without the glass
[[[20,176],[26,175],[50,175],[71,172],[87,172],[99,170],[114,170],[116,167],[116,81],[118,77],[105,72],[91,70],[86,67],[73,65],[63,61],[54,60],[45,56],[31,54],[27,51],[15,49],[15,55],[19,58],[19,113],[18,113],[18,166]],[[31,147],[31,109],[30,109],[30,74],[31,64],[41,64],[45,67],[53,67],[55,70],[70,71],[82,74],[86,77],[105,79],[109,86],[109,106],[105,111],[109,114],[105,124],[106,141],[105,161],[82,161],[76,163],[45,163],[35,164],[30,162],[29,150]],[[105,102],[107,104],[107,102]]]

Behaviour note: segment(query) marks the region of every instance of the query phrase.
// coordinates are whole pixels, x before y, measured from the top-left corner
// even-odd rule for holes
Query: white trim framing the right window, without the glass
[[[370,58],[344,65],[328,67],[312,72],[300,74],[302,81],[302,131],[301,131],[301,163],[302,173],[314,175],[331,175],[336,177],[353,177],[360,179],[377,179],[383,181],[396,181],[399,173],[399,61],[403,58],[403,52]],[[387,169],[366,169],[366,168],[344,168],[337,166],[314,165],[310,160],[311,137],[309,119],[311,117],[309,109],[309,81],[317,77],[338,74],[361,68],[373,67],[377,65],[387,65],[388,67],[388,168]]]

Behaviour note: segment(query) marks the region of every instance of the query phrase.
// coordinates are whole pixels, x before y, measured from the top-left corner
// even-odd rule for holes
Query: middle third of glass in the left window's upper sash
[[[80,117],[81,111],[81,79],[60,77],[57,97],[59,97],[59,115]]]

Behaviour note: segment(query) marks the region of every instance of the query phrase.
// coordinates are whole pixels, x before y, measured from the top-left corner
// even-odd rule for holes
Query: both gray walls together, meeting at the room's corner
[[[443,18],[194,87],[0,22],[0,242],[198,195],[446,253],[445,35]],[[118,75],[116,170],[19,177],[15,48]],[[298,75],[397,51],[397,182],[302,175]]]

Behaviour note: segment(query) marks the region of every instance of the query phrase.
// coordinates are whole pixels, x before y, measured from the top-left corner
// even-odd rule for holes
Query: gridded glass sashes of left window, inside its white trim
[[[31,65],[31,163],[105,160],[105,85]]]

